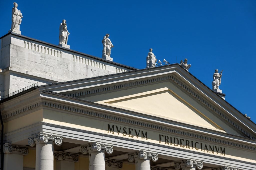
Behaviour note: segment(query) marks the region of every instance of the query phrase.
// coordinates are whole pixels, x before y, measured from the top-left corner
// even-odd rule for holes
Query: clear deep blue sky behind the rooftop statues
[[[11,27],[13,2],[0,1],[0,36]],[[208,87],[214,70],[223,69],[226,100],[256,122],[255,0],[16,2],[24,16],[20,30],[28,37],[58,44],[66,19],[73,50],[101,57],[101,40],[109,33],[118,63],[145,68],[153,48],[157,59],[170,63],[187,58],[189,72]]]

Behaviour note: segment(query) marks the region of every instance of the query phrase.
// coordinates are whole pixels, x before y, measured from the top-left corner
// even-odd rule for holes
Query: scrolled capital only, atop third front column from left
[[[134,159],[151,159],[153,162],[156,162],[158,160],[157,153],[151,153],[151,152],[145,152],[145,151],[139,151],[134,152],[132,154],[128,154],[128,161],[133,162]]]

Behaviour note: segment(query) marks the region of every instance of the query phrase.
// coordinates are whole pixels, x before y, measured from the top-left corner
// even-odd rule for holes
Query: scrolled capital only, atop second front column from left
[[[112,145],[105,145],[104,143],[93,142],[92,144],[87,144],[86,146],[81,146],[82,154],[87,154],[88,152],[106,152],[108,154],[113,153]]]

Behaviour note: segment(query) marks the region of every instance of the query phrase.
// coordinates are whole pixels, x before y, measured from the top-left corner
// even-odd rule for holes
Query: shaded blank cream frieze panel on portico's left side
[[[27,115],[17,117],[14,120],[4,123],[4,133],[9,133],[23,127],[33,125],[43,120],[43,111],[38,110]]]

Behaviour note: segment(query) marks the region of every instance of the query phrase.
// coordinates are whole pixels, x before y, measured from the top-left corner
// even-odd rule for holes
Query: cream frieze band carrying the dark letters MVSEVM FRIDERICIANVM
[[[216,143],[210,143],[207,142],[205,143],[204,141],[199,141],[199,140],[195,140],[194,138],[189,138],[189,137],[184,137],[184,136],[178,136],[178,135],[173,135],[170,133],[163,133],[163,131],[154,131],[151,129],[144,129],[141,128],[140,126],[131,126],[131,125],[127,125],[127,124],[118,124],[116,122],[110,123],[110,122],[106,122],[106,121],[100,121],[98,119],[91,119],[88,118],[88,116],[83,116],[83,115],[71,115],[68,113],[61,113],[61,112],[56,112],[56,111],[52,111],[52,110],[44,110],[44,122],[47,123],[51,123],[51,124],[56,124],[56,125],[62,125],[62,126],[67,126],[67,127],[72,127],[72,128],[77,128],[77,129],[81,129],[81,130],[88,130],[91,132],[98,132],[98,133],[103,133],[103,134],[108,134],[108,135],[113,135],[113,136],[118,136],[121,138],[124,138],[124,140],[128,139],[133,139],[137,142],[140,141],[147,141],[147,142],[151,142],[151,143],[156,143],[159,145],[167,145],[169,147],[173,147],[173,148],[178,148],[178,149],[183,149],[183,150],[193,150],[195,152],[201,152],[201,153],[206,153],[206,154],[210,154],[210,155],[216,155],[216,156],[220,156],[220,157],[225,157],[225,158],[231,158],[231,159],[237,159],[237,160],[242,160],[242,161],[248,161],[248,162],[254,162],[256,163],[255,160],[255,152],[252,151],[248,151],[248,150],[242,150],[242,149],[235,149],[235,148],[231,148],[228,147],[227,145],[219,145]],[[114,134],[113,132],[108,132],[108,124],[110,124],[110,126],[112,127],[112,125],[114,125]],[[124,127],[126,127],[126,131],[128,132],[128,128],[132,128],[132,129],[137,129],[137,132],[140,131],[144,131],[147,132],[147,140],[143,139],[141,137],[141,134],[136,137],[135,134],[135,130],[133,131],[133,134],[131,134],[131,136],[133,137],[129,137],[129,134],[124,135],[123,131],[121,129],[121,132],[118,133],[116,126],[118,126],[118,128],[122,127],[122,129]],[[174,146],[174,144],[172,145],[168,145],[165,144],[164,139],[162,139],[162,142],[159,143],[159,135],[166,135],[166,136],[172,136],[172,137],[176,137],[176,138],[182,138],[182,139],[187,139],[187,140],[193,140],[193,142],[198,142],[200,145],[200,143],[202,143],[203,147],[205,146],[205,144],[207,145],[211,145],[211,146],[216,146],[218,147],[222,147],[226,149],[226,154],[220,154],[217,152],[207,152],[207,150],[196,150],[196,148],[186,148],[186,147],[181,147],[180,145],[178,146]],[[243,153],[243,154],[237,154],[237,153]]]

